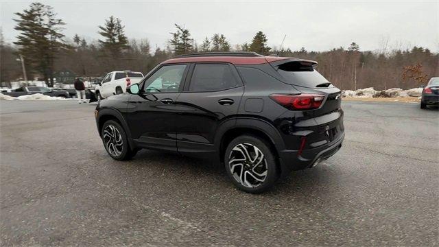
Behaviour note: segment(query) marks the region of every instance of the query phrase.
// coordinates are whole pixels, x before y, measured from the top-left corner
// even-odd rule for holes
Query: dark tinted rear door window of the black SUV
[[[240,86],[228,64],[196,64],[189,91],[222,91]]]

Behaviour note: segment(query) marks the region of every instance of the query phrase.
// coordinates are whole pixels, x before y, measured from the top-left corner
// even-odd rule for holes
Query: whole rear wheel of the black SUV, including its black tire
[[[254,149],[254,147],[256,147],[261,154],[263,154],[263,156],[259,154],[261,158],[258,158],[257,153],[259,153],[259,151]],[[252,148],[252,150],[248,150],[248,148]],[[248,160],[254,158],[255,162],[250,162],[250,164],[247,164],[249,162],[236,161],[238,159],[245,158],[244,155],[242,155],[244,153],[237,150],[248,150]],[[233,160],[235,160],[235,162]],[[240,163],[244,163],[244,165],[240,165]],[[258,163],[259,165],[252,166]],[[235,184],[238,189],[248,193],[261,193],[266,191],[267,189],[270,189],[270,187],[272,187],[279,178],[278,166],[276,165],[276,156],[270,148],[270,144],[264,139],[253,135],[241,135],[228,143],[226,152],[224,153],[224,167],[226,168],[226,172],[233,184]],[[263,169],[265,167],[266,169]],[[243,172],[241,172],[241,169]],[[256,177],[256,174],[254,174],[255,169],[259,169],[259,171],[257,171],[259,174],[264,174],[264,171],[266,171],[263,181],[253,179]],[[246,174],[245,176],[247,177],[240,177],[239,174]],[[262,180],[262,176],[259,176],[259,174],[257,177]],[[245,182],[243,182],[243,180],[245,180]],[[254,184],[252,184],[252,180]]]

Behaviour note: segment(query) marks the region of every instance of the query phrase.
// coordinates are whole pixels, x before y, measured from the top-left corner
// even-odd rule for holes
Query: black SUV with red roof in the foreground
[[[97,129],[117,160],[141,148],[209,158],[239,189],[261,192],[342,146],[340,89],[316,64],[254,53],[173,58],[100,101]]]

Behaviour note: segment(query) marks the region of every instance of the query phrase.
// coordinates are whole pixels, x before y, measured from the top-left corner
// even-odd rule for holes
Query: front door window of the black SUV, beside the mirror
[[[143,91],[147,93],[178,92],[185,73],[186,64],[166,65],[145,80]]]

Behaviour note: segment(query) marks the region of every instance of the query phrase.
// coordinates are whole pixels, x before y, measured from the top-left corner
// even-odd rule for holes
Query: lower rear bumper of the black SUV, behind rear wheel
[[[333,156],[342,148],[343,140],[344,132],[337,140],[318,148],[303,150],[300,155],[298,155],[298,150],[283,150],[279,152],[282,175],[285,176],[291,171],[312,167],[317,161],[322,161]]]

